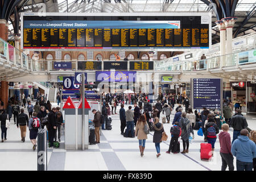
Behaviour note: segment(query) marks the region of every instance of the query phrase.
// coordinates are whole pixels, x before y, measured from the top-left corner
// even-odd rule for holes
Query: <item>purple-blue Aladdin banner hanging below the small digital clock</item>
[[[136,82],[136,72],[96,71],[96,82]]]

